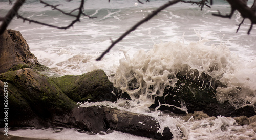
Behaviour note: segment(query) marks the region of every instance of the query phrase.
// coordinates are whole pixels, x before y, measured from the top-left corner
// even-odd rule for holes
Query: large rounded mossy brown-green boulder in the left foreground
[[[8,85],[10,127],[45,126],[44,120],[68,113],[76,105],[50,78],[29,68],[2,73],[0,81]]]

